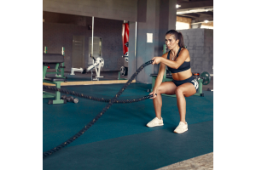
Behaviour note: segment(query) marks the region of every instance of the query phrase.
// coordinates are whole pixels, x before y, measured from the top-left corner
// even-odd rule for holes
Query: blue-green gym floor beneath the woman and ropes
[[[112,99],[123,84],[63,86]],[[119,99],[148,95],[151,84],[131,83]],[[156,169],[213,151],[213,92],[186,98],[189,131],[177,134],[176,98],[162,96],[164,126],[146,127],[154,115],[152,99],[113,104],[79,139],[43,159],[43,169]],[[65,94],[67,95],[67,94]],[[75,97],[75,96],[74,96]],[[48,105],[43,99],[43,152],[78,133],[107,103],[79,98],[79,103]]]

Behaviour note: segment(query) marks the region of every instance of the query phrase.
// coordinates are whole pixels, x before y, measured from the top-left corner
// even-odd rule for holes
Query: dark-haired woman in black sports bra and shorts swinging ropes
[[[152,65],[160,63],[160,70],[156,77],[153,91],[150,94],[153,99],[155,116],[148,127],[162,126],[163,118],[161,117],[162,98],[160,94],[176,94],[177,108],[180,115],[180,122],[174,133],[184,133],[188,130],[186,116],[186,100],[197,92],[198,82],[192,76],[190,68],[189,51],[184,47],[183,35],[181,32],[170,30],[166,32],[166,46],[170,49],[169,53],[161,57],[154,57]],[[172,72],[172,82],[162,82],[166,70]]]

